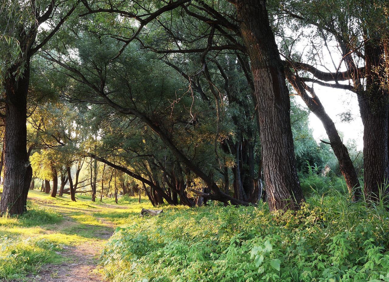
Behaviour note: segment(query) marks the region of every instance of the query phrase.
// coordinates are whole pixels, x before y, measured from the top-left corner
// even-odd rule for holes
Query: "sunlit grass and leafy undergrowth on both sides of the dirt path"
[[[351,203],[338,190],[284,214],[211,203],[140,216],[152,207],[137,197],[29,197],[25,215],[0,218],[0,280],[28,281],[27,273],[60,263],[64,246],[104,242],[121,226],[102,256],[114,282],[389,281],[388,206]]]

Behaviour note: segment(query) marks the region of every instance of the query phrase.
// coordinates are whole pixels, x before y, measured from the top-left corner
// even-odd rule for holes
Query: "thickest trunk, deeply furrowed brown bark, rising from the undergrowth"
[[[270,211],[299,209],[305,201],[297,176],[289,91],[265,0],[237,0],[240,32],[254,80],[263,172]]]

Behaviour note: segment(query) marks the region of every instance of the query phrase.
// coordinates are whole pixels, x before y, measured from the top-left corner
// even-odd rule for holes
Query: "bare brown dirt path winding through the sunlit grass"
[[[54,202],[42,202],[40,199],[29,198],[31,201],[39,202],[45,206],[56,208]],[[115,207],[117,208],[117,207]],[[101,208],[103,209],[103,208]],[[101,210],[100,209],[100,210]],[[95,212],[96,209],[93,210]],[[85,211],[86,214],[92,213]],[[99,229],[93,234],[93,238],[86,238],[84,242],[77,242],[74,247],[64,247],[62,251],[57,252],[63,256],[63,263],[60,265],[47,265],[40,270],[37,275],[29,277],[32,282],[102,282],[103,275],[98,272],[98,257],[109,239],[114,233],[114,224],[97,218],[101,221]],[[79,227],[79,223],[68,216],[58,224],[58,230],[69,227]],[[103,231],[102,227],[103,226]],[[93,230],[92,225],[86,226]],[[53,230],[56,232],[58,230]]]

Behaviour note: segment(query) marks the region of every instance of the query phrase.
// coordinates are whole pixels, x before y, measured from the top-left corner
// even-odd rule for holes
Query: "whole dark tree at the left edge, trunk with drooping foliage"
[[[30,61],[65,20],[74,12],[79,1],[41,0],[21,2],[6,0],[0,7],[2,27],[1,102],[5,104],[5,180],[0,201],[0,213],[10,215],[26,211],[32,168],[26,151],[27,96],[30,86]],[[48,29],[39,27],[47,22]],[[7,45],[12,46],[8,48]]]

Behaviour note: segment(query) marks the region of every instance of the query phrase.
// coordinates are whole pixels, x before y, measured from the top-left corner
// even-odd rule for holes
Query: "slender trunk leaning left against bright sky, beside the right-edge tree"
[[[336,130],[335,124],[332,119],[328,116],[324,110],[323,105],[321,104],[319,97],[315,95],[314,90],[309,88],[301,78],[293,76],[291,73],[286,74],[287,79],[297,91],[298,95],[303,99],[308,108],[320,119],[321,123],[326,130],[331,148],[334,151],[334,154],[339,162],[340,172],[342,173],[347,189],[349,190],[349,195],[352,198],[352,201],[356,202],[361,198],[361,185],[359,184],[359,179],[355,171],[354,165],[352,164],[349,152],[347,151],[346,146],[343,144],[338,131]],[[307,92],[310,92],[312,97],[310,97]]]

